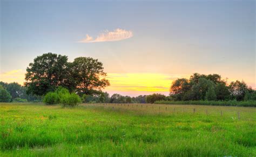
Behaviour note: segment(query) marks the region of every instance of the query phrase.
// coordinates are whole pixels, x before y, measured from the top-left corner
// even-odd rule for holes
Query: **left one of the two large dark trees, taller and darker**
[[[55,91],[58,86],[65,87],[68,73],[68,57],[54,53],[38,56],[29,64],[25,74],[27,92],[44,95]]]

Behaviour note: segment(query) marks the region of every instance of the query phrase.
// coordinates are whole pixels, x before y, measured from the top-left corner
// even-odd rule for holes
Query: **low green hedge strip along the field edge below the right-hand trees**
[[[207,100],[194,100],[194,101],[156,101],[154,104],[173,104],[173,105],[214,105],[214,106],[251,106],[256,107],[256,101],[207,101]]]

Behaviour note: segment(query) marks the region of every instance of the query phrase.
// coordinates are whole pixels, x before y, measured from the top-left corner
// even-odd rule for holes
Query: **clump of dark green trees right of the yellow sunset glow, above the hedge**
[[[180,78],[174,80],[170,87],[170,100],[233,100],[251,99],[251,93],[244,81],[233,81],[227,86],[227,80],[222,80],[219,74],[193,73],[189,80]]]

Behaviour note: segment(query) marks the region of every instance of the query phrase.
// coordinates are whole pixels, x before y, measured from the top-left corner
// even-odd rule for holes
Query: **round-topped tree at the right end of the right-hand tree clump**
[[[237,99],[238,101],[244,100],[247,91],[247,85],[244,81],[232,81],[228,87],[232,98]]]

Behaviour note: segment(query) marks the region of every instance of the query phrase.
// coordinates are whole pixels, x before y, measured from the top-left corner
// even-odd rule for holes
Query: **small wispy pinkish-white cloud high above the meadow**
[[[113,42],[113,41],[128,39],[128,38],[131,38],[132,36],[133,36],[132,31],[116,29],[112,32],[105,31],[95,39],[93,39],[89,35],[86,35],[86,38],[80,40],[79,43]]]

